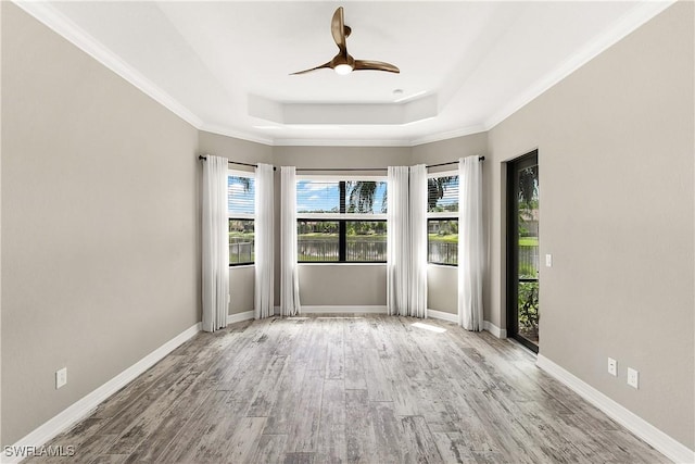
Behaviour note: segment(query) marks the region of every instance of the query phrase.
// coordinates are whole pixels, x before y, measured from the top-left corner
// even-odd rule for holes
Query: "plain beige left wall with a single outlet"
[[[11,444],[200,321],[199,162],[193,127],[8,2],[2,86]]]

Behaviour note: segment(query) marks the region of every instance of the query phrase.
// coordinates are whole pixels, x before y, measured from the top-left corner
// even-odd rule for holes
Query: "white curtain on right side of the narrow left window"
[[[254,262],[255,294],[254,317],[261,319],[274,314],[274,209],[273,166],[258,163],[255,177]]]

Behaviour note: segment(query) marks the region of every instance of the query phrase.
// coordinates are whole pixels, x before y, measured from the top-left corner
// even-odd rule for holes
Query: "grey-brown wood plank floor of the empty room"
[[[441,321],[239,323],[198,335],[48,443],[72,459],[26,462],[669,462],[534,362]]]

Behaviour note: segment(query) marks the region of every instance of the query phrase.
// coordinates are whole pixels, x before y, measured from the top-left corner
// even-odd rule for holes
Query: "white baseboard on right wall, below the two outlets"
[[[539,354],[535,364],[673,462],[695,462],[695,452],[693,450],[681,444],[544,355]]]

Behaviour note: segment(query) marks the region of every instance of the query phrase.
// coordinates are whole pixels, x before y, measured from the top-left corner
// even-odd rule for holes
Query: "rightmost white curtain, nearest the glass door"
[[[482,163],[478,155],[458,161],[458,323],[483,329]]]

